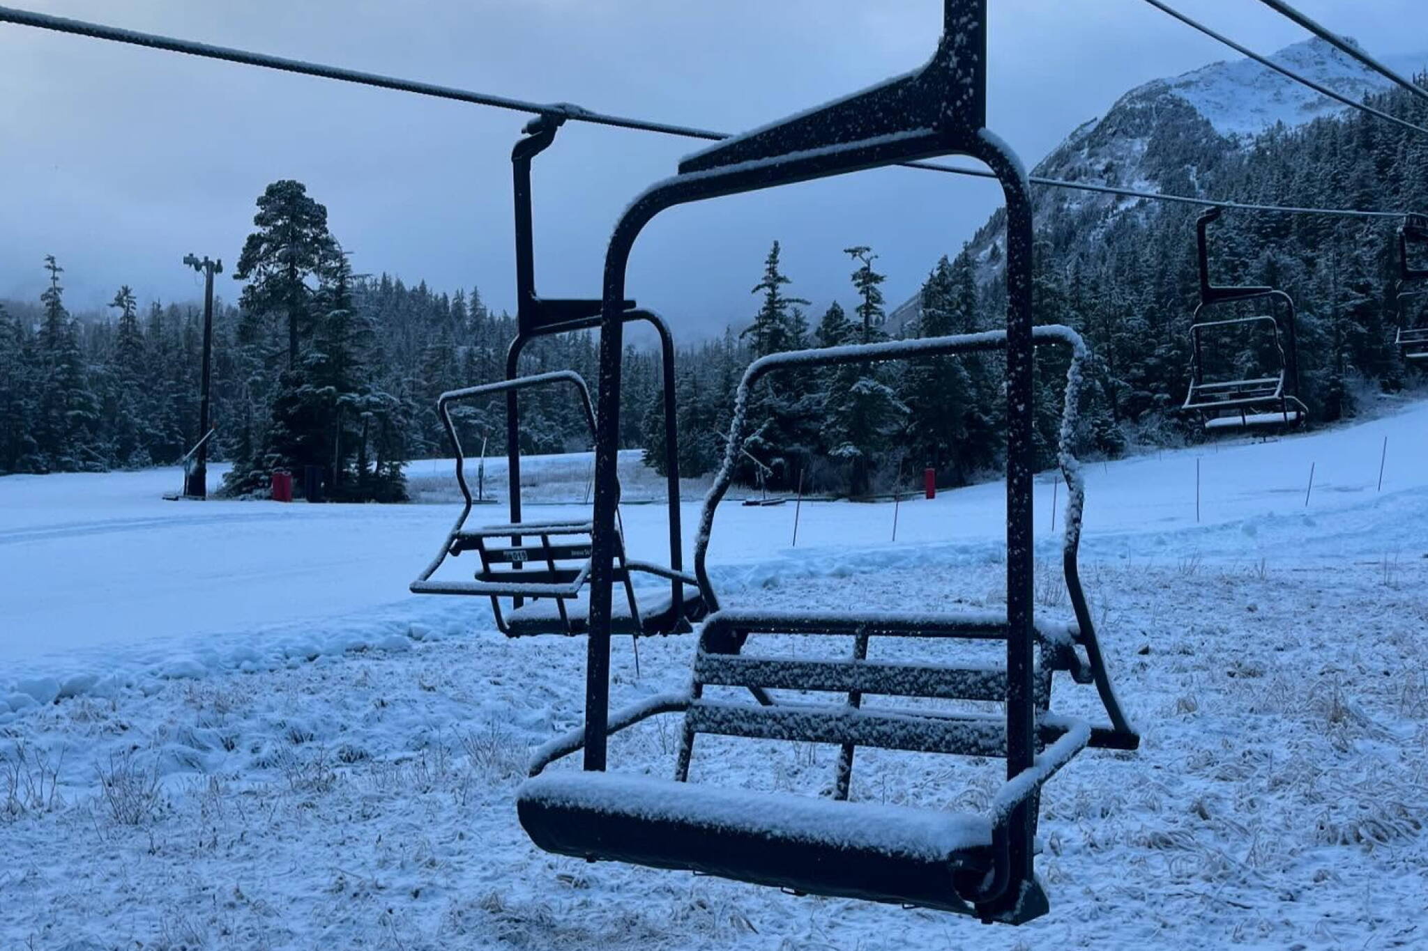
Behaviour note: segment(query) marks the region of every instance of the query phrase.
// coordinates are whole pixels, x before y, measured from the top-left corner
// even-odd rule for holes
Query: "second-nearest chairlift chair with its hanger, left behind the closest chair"
[[[417,595],[476,595],[491,599],[491,610],[501,633],[510,637],[528,634],[584,634],[590,630],[588,583],[591,579],[593,523],[588,519],[564,522],[526,522],[521,518],[520,403],[521,391],[533,388],[568,388],[580,401],[591,436],[595,419],[585,381],[574,371],[518,375],[520,355],[537,336],[587,331],[600,327],[601,301],[547,299],[536,294],[534,237],[531,224],[531,158],[544,151],[565,121],[560,113],[540,115],[526,125],[524,137],[511,151],[516,195],[516,289],[517,335],[506,355],[506,379],[441,394],[437,411],[456,452],[456,476],[466,505],[447,535],[441,550],[421,576],[411,583]],[[704,616],[697,580],[683,570],[680,533],[678,433],[674,403],[674,341],[664,319],[653,311],[637,309],[634,301],[621,301],[620,322],[645,321],[660,335],[663,356],[664,449],[668,493],[670,565],[627,559],[624,539],[614,543],[620,562],[623,597],[613,612],[614,633],[670,634],[693,630]],[[451,419],[458,402],[506,395],[507,465],[510,519],[501,525],[467,528],[474,500],[466,480],[461,442]],[[618,493],[618,488],[615,489]],[[434,579],[450,556],[476,552],[480,567],[470,582]],[[634,577],[658,580],[657,586],[635,587]]]

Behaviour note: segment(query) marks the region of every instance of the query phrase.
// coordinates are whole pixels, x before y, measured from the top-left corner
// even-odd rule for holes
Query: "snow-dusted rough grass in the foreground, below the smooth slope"
[[[1428,921],[1428,565],[1098,565],[1134,754],[1047,788],[1052,913],[1021,930],[545,855],[513,794],[580,720],[580,640],[431,633],[31,711],[0,743],[0,945],[36,948],[1418,947]],[[740,603],[995,603],[998,566],[884,570]],[[1352,632],[1352,636],[1348,636]],[[691,637],[617,643],[628,701]],[[1075,709],[1080,690],[1062,686]],[[613,747],[668,776],[675,723]],[[697,777],[817,790],[831,754],[710,741]],[[985,804],[997,764],[861,757],[854,796]],[[7,793],[9,790],[9,793]],[[39,790],[39,791],[36,791]],[[89,941],[89,944],[84,944]],[[29,942],[29,944],[27,944]]]

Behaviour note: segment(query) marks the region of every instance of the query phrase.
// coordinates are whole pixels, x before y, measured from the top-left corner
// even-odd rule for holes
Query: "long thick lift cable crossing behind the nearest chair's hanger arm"
[[[297,73],[300,76],[316,76],[318,78],[337,80],[340,83],[373,86],[377,88],[394,90],[398,93],[413,93],[416,96],[430,96],[434,98],[444,98],[457,103],[490,106],[493,108],[506,108],[517,113],[530,113],[534,115],[551,115],[575,123],[591,123],[595,125],[610,125],[614,128],[633,128],[644,133],[661,133],[664,135],[680,135],[683,138],[701,138],[708,141],[731,138],[728,133],[715,133],[707,128],[695,128],[691,125],[674,125],[670,123],[655,123],[644,118],[630,118],[627,115],[597,113],[594,110],[588,110],[580,106],[573,106],[570,103],[541,104],[541,103],[531,103],[527,100],[511,98],[508,96],[473,93],[470,90],[456,88],[451,86],[418,83],[414,80],[403,80],[393,76],[381,76],[378,73],[363,73],[360,70],[348,70],[338,66],[324,66],[320,63],[307,63],[304,60],[291,60],[280,56],[268,56],[267,53],[253,53],[250,50],[238,50],[234,47],[213,46],[208,43],[194,43],[193,40],[180,40],[176,37],[159,36],[156,33],[140,33],[137,30],[126,30],[123,27],[111,27],[101,23],[89,23],[86,20],[73,20],[69,17],[56,17],[46,13],[17,10],[14,7],[0,6],[0,23],[14,23],[17,26],[34,27],[37,30],[51,30],[54,33],[84,36],[96,40],[109,40],[111,43],[126,43],[129,46],[141,46],[151,50],[164,50],[167,53],[183,53],[186,56],[197,56],[208,60],[223,60],[226,63],[238,63],[241,66],[257,66],[261,68],[278,70],[283,73]],[[924,171],[940,171],[952,175],[971,175],[975,178],[995,178],[992,173],[980,168],[942,165],[938,163],[928,163],[928,161],[911,161],[904,164],[908,168],[920,168]],[[1045,178],[1041,175],[1031,175],[1030,181],[1035,185],[1044,185],[1048,188],[1072,188],[1077,191],[1092,191],[1108,195],[1120,195],[1124,198],[1171,201],[1180,204],[1212,207],[1212,208],[1230,208],[1241,211],[1318,214],[1318,215],[1338,215],[1349,218],[1404,217],[1404,212],[1401,211],[1362,211],[1355,208],[1295,208],[1287,205],[1245,204],[1238,201],[1214,201],[1210,198],[1195,198],[1191,195],[1174,195],[1155,191],[1137,191],[1134,188],[1115,188],[1112,185],[1094,185],[1088,183],[1062,181],[1060,178]]]

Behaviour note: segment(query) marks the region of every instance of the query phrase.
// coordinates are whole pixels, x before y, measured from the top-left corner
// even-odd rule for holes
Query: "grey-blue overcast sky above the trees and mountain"
[[[6,0],[223,46],[537,101],[738,131],[920,64],[937,0]],[[1269,53],[1305,38],[1252,0],[1178,6]],[[1379,54],[1425,46],[1424,0],[1301,0]],[[1227,50],[1138,0],[991,0],[988,124],[1038,161],[1125,90]],[[1405,29],[1405,24],[1417,24]],[[360,272],[480,287],[514,309],[510,147],[527,117],[0,24],[0,297],[34,298],[41,259],[73,308],[120,284],[194,299],[186,252],[231,279],[253,201],[297,178]],[[698,143],[567,125],[537,160],[537,282],[593,297],[605,240]],[[661,215],[630,292],[685,335],[744,322],[770,241],[793,289],[850,295],[841,250],[868,244],[890,304],[998,204],[994,184],[910,170]]]

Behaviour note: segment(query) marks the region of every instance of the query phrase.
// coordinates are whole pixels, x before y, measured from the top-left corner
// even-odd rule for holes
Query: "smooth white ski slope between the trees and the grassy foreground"
[[[1428,403],[1419,402],[1371,422],[1272,442],[1088,465],[1084,556],[1275,565],[1419,557],[1428,553],[1425,433]],[[528,478],[538,478],[540,465],[527,463]],[[101,670],[121,657],[143,666],[180,647],[263,650],[267,639],[293,632],[321,642],[328,634],[350,637],[374,620],[454,616],[480,626],[487,617],[478,599],[447,605],[406,590],[440,548],[456,505],[164,502],[163,492],[178,480],[170,469],[0,479],[0,663],[7,670]],[[1057,482],[1052,473],[1038,476],[1037,538],[1047,556],[1061,528],[1064,492]],[[526,518],[554,520],[585,510],[575,503],[528,505]],[[501,505],[473,518],[487,512],[491,520],[504,519]],[[681,505],[685,565],[698,512],[697,500]],[[627,503],[621,515],[633,557],[668,557],[663,503]],[[997,557],[1002,522],[1001,483],[898,506],[727,502],[714,523],[710,563],[717,579],[741,586],[880,566],[984,562]],[[443,570],[470,570],[468,562],[451,559]]]

